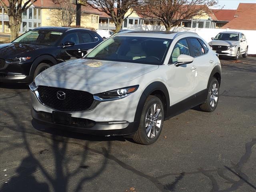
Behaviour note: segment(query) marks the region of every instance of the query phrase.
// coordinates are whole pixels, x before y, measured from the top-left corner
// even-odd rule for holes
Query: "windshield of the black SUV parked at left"
[[[18,37],[13,43],[24,43],[34,45],[54,45],[62,35],[58,31],[31,30]]]

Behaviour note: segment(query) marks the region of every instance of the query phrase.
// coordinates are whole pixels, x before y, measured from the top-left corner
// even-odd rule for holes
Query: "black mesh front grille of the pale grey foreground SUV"
[[[72,112],[88,110],[94,101],[93,95],[85,91],[47,86],[38,86],[37,90],[40,100],[46,106],[59,111]],[[65,93],[64,99],[60,97],[63,100],[57,97],[58,91]]]

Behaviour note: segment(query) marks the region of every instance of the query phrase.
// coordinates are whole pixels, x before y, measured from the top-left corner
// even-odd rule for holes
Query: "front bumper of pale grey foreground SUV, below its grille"
[[[52,113],[58,110],[50,108],[41,102],[38,92],[30,90],[32,98],[32,117],[41,124],[64,128],[74,132],[97,135],[130,135],[136,132],[139,122],[134,122],[141,92],[138,89],[129,96],[111,101],[99,102],[94,108],[80,112],[66,112],[73,120],[71,124],[56,124],[52,120]],[[44,115],[43,115],[44,114]],[[91,126],[78,126],[76,122],[94,122]]]

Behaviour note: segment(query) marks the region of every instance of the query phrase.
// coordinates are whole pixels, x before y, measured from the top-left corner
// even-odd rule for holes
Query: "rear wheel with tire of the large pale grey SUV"
[[[207,98],[204,103],[200,105],[200,109],[205,112],[213,112],[219,101],[219,82],[216,78],[212,78],[209,88]]]

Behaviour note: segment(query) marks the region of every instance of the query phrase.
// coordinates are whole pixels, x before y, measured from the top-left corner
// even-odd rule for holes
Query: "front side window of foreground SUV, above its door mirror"
[[[179,40],[172,51],[172,62],[176,62],[178,56],[181,54],[190,55],[188,49],[188,42],[186,39]]]

